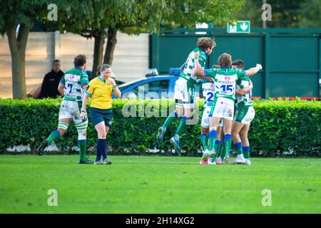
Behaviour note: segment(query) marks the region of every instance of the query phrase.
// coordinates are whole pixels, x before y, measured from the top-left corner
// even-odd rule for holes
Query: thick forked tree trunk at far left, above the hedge
[[[12,91],[14,99],[26,98],[26,43],[28,41],[30,28],[20,24],[18,36],[16,26],[6,24],[9,48],[11,52]]]

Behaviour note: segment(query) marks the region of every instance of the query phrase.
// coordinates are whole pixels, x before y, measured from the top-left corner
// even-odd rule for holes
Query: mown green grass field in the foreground
[[[253,158],[198,165],[198,157],[0,155],[0,213],[320,213],[320,158]],[[49,189],[58,206],[49,207]],[[263,207],[264,189],[272,206]]]

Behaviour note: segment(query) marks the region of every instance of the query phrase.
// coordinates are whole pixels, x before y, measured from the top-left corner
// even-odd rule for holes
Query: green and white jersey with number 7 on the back
[[[87,73],[82,68],[75,66],[67,71],[60,82],[65,85],[63,100],[83,100],[83,89],[81,87],[88,85],[89,81]]]

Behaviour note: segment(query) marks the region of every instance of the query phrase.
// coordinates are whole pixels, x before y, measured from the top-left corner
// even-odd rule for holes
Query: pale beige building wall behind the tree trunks
[[[106,47],[106,41],[105,46]],[[92,70],[93,39],[73,33],[59,34],[31,32],[26,47],[26,90],[41,85],[44,75],[51,71],[54,59],[61,60],[62,71],[73,67],[73,58],[78,54],[88,58],[87,68]],[[0,38],[0,98],[12,98],[11,55],[6,36]],[[113,59],[113,73],[121,81],[141,78],[148,69],[148,34],[128,36],[117,34]]]

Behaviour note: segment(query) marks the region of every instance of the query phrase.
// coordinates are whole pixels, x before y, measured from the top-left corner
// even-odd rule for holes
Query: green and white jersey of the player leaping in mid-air
[[[206,63],[206,53],[200,49],[200,48],[195,48],[190,54],[188,55],[188,59],[185,62],[185,66],[183,68],[183,72],[180,73],[180,77],[185,78],[188,83],[197,83],[199,81],[199,78],[194,75],[194,68],[195,68],[195,63],[194,63],[194,53],[200,52],[200,56],[198,57],[198,63],[200,63],[200,66],[202,68],[205,67]]]

